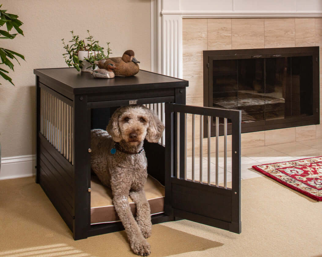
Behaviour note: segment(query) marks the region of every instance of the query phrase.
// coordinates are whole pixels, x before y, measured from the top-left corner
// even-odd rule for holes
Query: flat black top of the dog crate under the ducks
[[[35,69],[33,73],[39,77],[41,83],[73,95],[188,86],[186,80],[144,70],[140,70],[134,76],[113,79],[94,78],[90,72],[79,72],[74,68]]]

